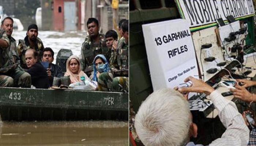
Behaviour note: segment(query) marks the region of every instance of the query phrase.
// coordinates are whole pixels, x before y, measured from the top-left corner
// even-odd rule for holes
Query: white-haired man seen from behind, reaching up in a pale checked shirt
[[[212,141],[209,146],[247,146],[249,129],[236,105],[202,80],[188,77],[185,82],[188,81],[192,81],[192,87],[178,91],[210,95],[222,124],[227,128],[222,137]],[[197,126],[192,122],[188,101],[178,91],[155,91],[140,105],[135,116],[135,129],[144,145],[196,146],[189,142],[189,138],[196,137]]]

